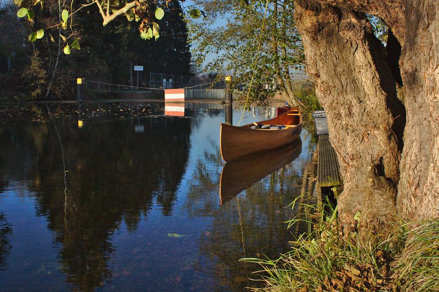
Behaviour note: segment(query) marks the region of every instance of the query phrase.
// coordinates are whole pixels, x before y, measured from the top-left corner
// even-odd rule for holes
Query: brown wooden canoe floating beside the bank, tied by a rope
[[[284,125],[283,129],[252,129],[258,125]],[[272,127],[274,128],[274,127]],[[289,144],[302,132],[302,115],[299,108],[293,108],[274,119],[250,123],[243,126],[232,126],[221,123],[220,149],[225,162],[254,152],[266,151]]]

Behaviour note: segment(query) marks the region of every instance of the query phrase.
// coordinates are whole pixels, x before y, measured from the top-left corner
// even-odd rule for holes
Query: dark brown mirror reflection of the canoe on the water
[[[292,143],[266,152],[253,153],[227,162],[220,177],[220,204],[253,183],[296,159],[302,151],[299,137]]]

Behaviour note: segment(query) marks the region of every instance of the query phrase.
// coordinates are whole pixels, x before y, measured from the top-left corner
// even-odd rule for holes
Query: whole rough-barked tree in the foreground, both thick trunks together
[[[339,219],[359,211],[360,233],[385,235],[396,211],[439,216],[439,2],[364,2],[296,0],[295,18],[344,178]],[[364,13],[396,36],[387,55]]]

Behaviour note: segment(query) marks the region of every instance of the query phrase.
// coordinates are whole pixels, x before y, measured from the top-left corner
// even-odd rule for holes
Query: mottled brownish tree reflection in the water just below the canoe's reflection
[[[218,209],[223,166],[218,157],[219,148],[213,145],[213,151],[205,153],[206,163],[197,164],[185,207],[194,217],[213,217],[200,238],[200,253],[215,263],[212,277],[219,287],[243,290],[257,284],[247,279],[255,277],[251,273],[258,267],[239,259],[275,258],[289,249],[291,231],[284,222],[297,210],[286,206],[301,194],[302,173],[310,161],[305,157],[280,167]]]

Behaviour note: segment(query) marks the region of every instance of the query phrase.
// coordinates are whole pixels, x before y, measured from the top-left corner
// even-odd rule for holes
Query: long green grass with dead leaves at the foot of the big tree
[[[264,288],[254,291],[439,291],[439,219],[411,230],[400,225],[393,237],[375,243],[343,233],[336,209],[290,225],[303,222],[308,231],[277,260],[242,259],[263,268],[257,273]]]

